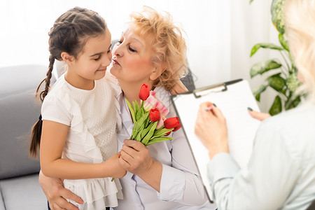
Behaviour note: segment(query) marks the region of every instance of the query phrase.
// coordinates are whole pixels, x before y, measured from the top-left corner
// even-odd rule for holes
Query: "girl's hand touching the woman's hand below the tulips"
[[[106,160],[104,162],[104,170],[108,172],[107,174],[111,174],[109,177],[119,179],[119,178],[123,178],[127,174],[126,169],[121,167],[119,164],[119,157],[120,157],[120,152],[111,156],[109,160]]]

